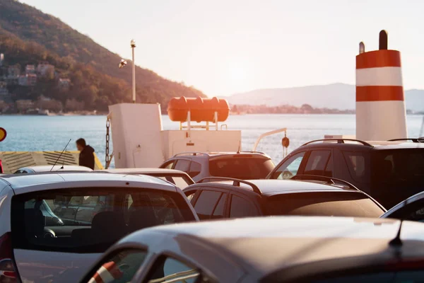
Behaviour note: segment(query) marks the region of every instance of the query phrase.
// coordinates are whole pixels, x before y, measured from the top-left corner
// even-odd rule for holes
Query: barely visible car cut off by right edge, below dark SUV
[[[391,207],[381,217],[424,222],[424,192],[408,197]]]

